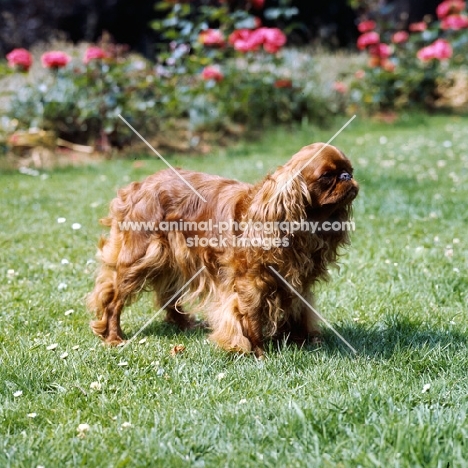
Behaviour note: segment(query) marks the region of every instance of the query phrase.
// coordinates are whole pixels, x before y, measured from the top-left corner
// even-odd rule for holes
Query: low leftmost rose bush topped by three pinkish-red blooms
[[[149,64],[97,47],[88,48],[82,59],[52,52],[41,57],[42,66],[52,73],[40,82],[29,80],[10,100],[7,115],[16,129],[53,131],[98,149],[130,142],[132,132],[118,118],[120,113],[143,129],[155,130],[153,121],[146,120],[147,110],[162,98],[163,90],[154,86]]]

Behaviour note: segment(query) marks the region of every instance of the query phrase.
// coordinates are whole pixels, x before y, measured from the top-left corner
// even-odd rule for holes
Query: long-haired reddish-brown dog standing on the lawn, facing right
[[[312,302],[312,285],[349,241],[358,190],[350,161],[324,143],[302,148],[255,185],[171,169],[131,183],[101,220],[110,235],[100,241],[88,298],[92,330],[121,343],[123,307],[152,290],[181,328],[204,311],[211,339],[226,350],[261,356],[269,337],[317,336],[317,317],[278,275]]]

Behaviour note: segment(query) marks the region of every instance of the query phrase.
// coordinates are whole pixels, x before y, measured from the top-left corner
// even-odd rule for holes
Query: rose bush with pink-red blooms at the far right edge
[[[468,63],[465,8],[463,1],[443,1],[437,20],[410,24],[408,31],[362,22],[357,47],[369,58],[362,77],[350,80],[350,110],[434,107],[449,67]]]

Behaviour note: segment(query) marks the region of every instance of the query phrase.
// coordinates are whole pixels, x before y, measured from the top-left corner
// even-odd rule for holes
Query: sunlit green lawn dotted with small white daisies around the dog
[[[83,301],[97,220],[117,187],[163,163],[0,175],[0,466],[468,466],[467,126],[357,120],[335,140],[361,192],[352,245],[317,303],[357,356],[325,331],[318,349],[271,345],[259,362],[160,319],[144,344],[103,347]],[[169,159],[254,181],[334,132]],[[152,313],[149,297],[129,307],[126,333]],[[175,344],[186,350],[172,357]]]

